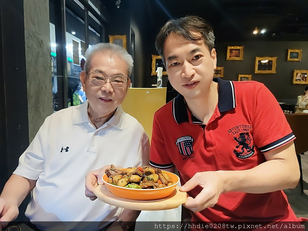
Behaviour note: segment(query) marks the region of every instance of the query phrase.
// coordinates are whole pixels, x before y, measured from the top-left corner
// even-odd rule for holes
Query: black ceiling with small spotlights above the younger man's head
[[[101,1],[108,8],[115,8],[116,0]],[[128,2],[121,0],[120,7],[128,7]],[[146,11],[153,34],[168,19],[193,14],[208,20],[220,41],[308,41],[308,0],[131,0],[131,3],[130,7]],[[266,32],[252,34],[256,27]]]

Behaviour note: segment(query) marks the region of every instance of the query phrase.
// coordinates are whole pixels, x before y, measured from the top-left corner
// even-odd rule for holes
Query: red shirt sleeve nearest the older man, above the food
[[[157,122],[156,115],[154,115],[153,120],[150,165],[156,168],[170,168],[174,165],[168,155],[166,144],[164,142],[160,126]]]

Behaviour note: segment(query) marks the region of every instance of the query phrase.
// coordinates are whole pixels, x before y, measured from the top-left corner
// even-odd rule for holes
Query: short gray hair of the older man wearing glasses
[[[87,74],[89,74],[89,71],[91,70],[91,60],[97,52],[111,52],[115,55],[118,55],[120,59],[126,62],[128,78],[130,78],[134,66],[133,58],[123,47],[113,43],[97,43],[87,49],[85,54],[86,62],[84,64],[84,71]]]

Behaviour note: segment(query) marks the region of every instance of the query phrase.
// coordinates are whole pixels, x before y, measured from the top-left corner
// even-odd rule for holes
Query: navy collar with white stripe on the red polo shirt
[[[214,78],[218,83],[218,110],[219,112],[229,111],[236,107],[234,84],[232,81]],[[188,112],[184,97],[178,94],[172,100],[172,114],[177,124],[188,122]]]

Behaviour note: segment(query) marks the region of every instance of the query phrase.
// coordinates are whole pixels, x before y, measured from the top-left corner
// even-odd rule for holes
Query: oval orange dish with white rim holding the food
[[[124,169],[126,168],[122,168],[121,170]],[[103,182],[106,184],[107,188],[109,189],[109,191],[115,196],[131,200],[150,201],[150,200],[158,200],[165,197],[169,197],[176,188],[176,185],[180,182],[180,178],[176,174],[163,170],[162,172],[168,173],[168,175],[172,178],[174,184],[164,188],[138,189],[138,188],[125,188],[109,184],[107,182],[108,177],[106,174],[103,175],[102,179]]]

